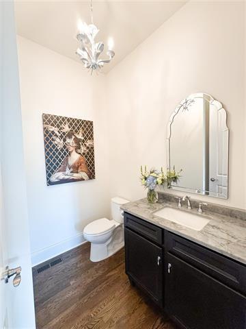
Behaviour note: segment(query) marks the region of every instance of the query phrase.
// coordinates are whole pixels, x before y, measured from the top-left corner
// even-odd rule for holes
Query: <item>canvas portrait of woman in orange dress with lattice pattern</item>
[[[93,121],[42,114],[47,185],[95,178]]]

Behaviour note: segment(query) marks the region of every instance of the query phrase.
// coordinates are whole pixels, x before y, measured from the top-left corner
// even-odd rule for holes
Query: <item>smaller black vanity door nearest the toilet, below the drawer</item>
[[[161,306],[163,252],[161,247],[125,228],[126,274]]]

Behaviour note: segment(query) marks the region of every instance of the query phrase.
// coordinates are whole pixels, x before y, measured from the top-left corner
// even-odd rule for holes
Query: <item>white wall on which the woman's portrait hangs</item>
[[[33,264],[83,241],[84,226],[109,216],[104,75],[18,37]],[[96,180],[46,186],[42,113],[94,121]]]

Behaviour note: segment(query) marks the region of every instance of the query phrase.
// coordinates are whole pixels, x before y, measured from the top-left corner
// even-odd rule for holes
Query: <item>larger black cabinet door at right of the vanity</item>
[[[165,284],[167,313],[184,328],[246,328],[243,295],[171,254],[167,254]]]

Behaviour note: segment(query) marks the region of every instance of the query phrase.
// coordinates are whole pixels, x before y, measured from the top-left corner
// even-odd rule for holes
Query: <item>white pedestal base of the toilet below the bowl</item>
[[[122,247],[124,247],[124,230],[122,226],[118,226],[105,243],[91,243],[90,260],[100,262],[118,252]]]

